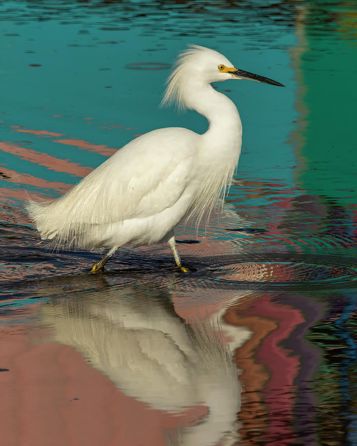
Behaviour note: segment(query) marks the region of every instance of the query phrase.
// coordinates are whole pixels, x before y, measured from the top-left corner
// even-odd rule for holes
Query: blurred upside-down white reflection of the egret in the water
[[[166,433],[168,445],[234,445],[241,386],[219,325],[186,323],[175,312],[174,287],[107,286],[42,305],[42,325],[56,342],[80,351],[126,395],[153,409],[179,413],[195,405],[207,414]],[[246,339],[246,331],[229,333]],[[244,338],[244,339],[243,339]],[[133,414],[133,416],[135,416]]]

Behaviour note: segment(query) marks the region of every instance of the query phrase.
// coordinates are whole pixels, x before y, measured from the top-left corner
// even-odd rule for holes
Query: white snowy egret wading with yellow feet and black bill
[[[56,247],[109,249],[92,272],[122,245],[168,242],[182,272],[174,227],[184,218],[198,224],[229,187],[238,164],[241,122],[238,110],[211,82],[251,79],[279,85],[249,73],[217,51],[190,46],[168,79],[162,104],[177,103],[209,121],[199,135],[186,128],[153,130],[132,140],[62,197],[32,201],[27,209],[41,238]]]

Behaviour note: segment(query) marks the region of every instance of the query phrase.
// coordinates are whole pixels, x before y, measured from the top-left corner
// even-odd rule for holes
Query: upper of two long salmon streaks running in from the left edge
[[[25,149],[24,147],[8,145],[3,142],[0,142],[0,150],[2,152],[12,153],[23,160],[48,167],[56,172],[65,172],[73,176],[84,177],[93,170],[89,167],[80,166],[77,163],[60,160],[59,158],[52,157],[46,153],[36,152],[35,150]]]

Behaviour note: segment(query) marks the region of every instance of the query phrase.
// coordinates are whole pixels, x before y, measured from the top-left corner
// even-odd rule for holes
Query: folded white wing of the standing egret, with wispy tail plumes
[[[149,217],[173,206],[194,176],[199,135],[165,128],[142,135],[50,204],[28,210],[43,239],[63,245],[93,224]]]

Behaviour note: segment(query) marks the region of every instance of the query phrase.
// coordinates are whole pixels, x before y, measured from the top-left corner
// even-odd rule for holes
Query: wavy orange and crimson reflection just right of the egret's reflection
[[[292,434],[290,426],[293,425],[294,379],[300,368],[300,359],[284,348],[281,342],[305,322],[300,310],[263,297],[250,302],[248,308],[242,306],[240,301],[227,311],[225,320],[233,325],[246,326],[253,333],[235,356],[238,367],[243,370],[245,387],[250,390],[248,399],[250,403],[254,402],[254,410],[249,406],[245,408],[243,404],[240,414],[243,423],[248,422],[249,428],[254,427],[260,414],[265,412],[266,405],[269,408],[269,426],[264,434],[266,444],[274,445],[277,438],[283,437],[286,440],[281,440],[279,444],[289,445]],[[260,399],[261,390],[267,392],[264,400]],[[249,444],[255,444],[255,441]]]

